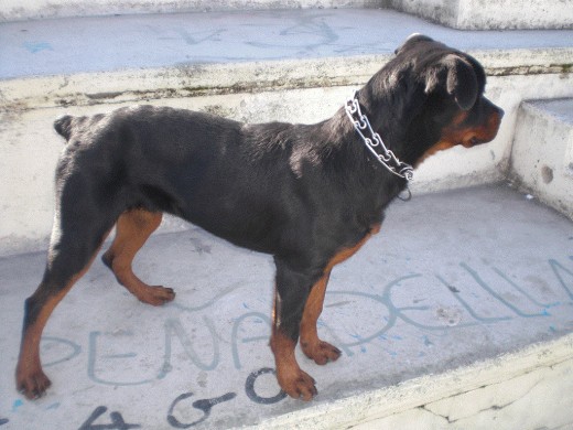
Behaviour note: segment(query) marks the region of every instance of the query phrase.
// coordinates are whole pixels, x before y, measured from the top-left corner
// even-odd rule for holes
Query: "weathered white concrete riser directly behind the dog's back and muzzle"
[[[506,110],[498,137],[486,146],[455,148],[426,160],[415,172],[414,193],[500,181],[509,166],[521,100],[573,97],[573,75],[561,66],[543,66],[571,57],[567,50],[528,51],[510,58],[495,52],[473,54],[490,75],[488,97]],[[63,147],[52,128],[57,116],[151,103],[248,122],[311,123],[333,115],[350,89],[363,85],[388,57],[355,57],[352,64],[346,58],[213,64],[3,82],[0,254],[45,247],[54,209],[54,168]]]

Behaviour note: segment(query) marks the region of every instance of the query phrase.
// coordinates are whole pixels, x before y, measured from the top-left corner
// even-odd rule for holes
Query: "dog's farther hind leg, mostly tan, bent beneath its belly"
[[[151,287],[141,281],[131,268],[138,250],[161,224],[160,212],[131,209],[119,216],[113,243],[104,254],[104,262],[113,271],[119,283],[140,301],[160,305],[172,301],[175,293],[171,288]]]

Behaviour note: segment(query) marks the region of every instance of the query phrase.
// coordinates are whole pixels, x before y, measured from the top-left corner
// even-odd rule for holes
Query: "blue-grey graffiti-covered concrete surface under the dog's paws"
[[[320,367],[299,354],[317,380],[310,404],[284,398],[272,375],[272,259],[194,226],[152,236],[136,261],[142,279],[176,290],[165,307],[138,302],[96,261],[44,332],[53,387],[28,401],[13,372],[23,301],[45,255],[7,257],[0,427],[288,428],[280,419],[289,412],[490,358],[496,366],[504,354],[573,332],[572,250],[573,223],[508,184],[397,201],[380,234],[334,270],[320,333],[343,356]],[[518,428],[536,428],[534,405],[520,419],[528,427]]]

